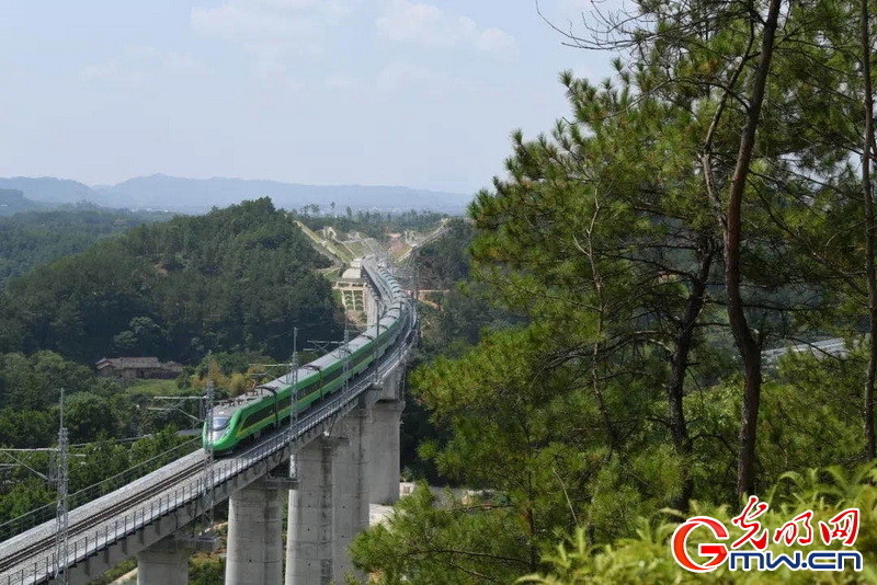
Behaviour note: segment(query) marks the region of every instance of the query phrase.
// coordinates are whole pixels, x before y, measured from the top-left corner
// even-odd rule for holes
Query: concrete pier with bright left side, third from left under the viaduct
[[[332,573],[334,464],[344,443],[321,437],[298,451],[298,486],[289,491],[286,585],[328,585]]]

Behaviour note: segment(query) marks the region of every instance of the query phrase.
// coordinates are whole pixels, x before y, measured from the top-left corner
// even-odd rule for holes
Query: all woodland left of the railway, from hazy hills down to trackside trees
[[[207,378],[220,394],[240,391],[253,385],[252,362],[288,358],[293,326],[305,340],[340,336],[340,308],[314,269],[328,261],[269,199],[152,222],[167,218],[64,209],[0,219],[0,274],[21,274],[0,291],[0,446],[52,446],[64,388],[70,440],[82,444],[73,457],[87,461],[71,470],[70,490],[102,482],[73,505],[196,447],[175,434],[191,418],[162,410],[156,391],[200,394]],[[191,366],[155,386],[98,376],[91,363],[113,355]],[[119,441],[127,437],[143,438]],[[22,457],[48,470],[45,452]],[[41,506],[54,497],[26,468],[5,469],[0,540],[50,517]]]

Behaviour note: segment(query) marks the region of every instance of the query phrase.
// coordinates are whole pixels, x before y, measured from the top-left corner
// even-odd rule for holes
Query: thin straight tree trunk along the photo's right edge
[[[862,0],[862,76],[865,92],[865,128],[862,149],[862,195],[865,203],[865,272],[868,280],[868,320],[870,325],[870,349],[868,371],[865,377],[865,392],[862,405],[865,431],[865,454],[868,459],[877,456],[874,436],[874,383],[877,376],[877,272],[874,267],[874,196],[870,185],[870,152],[874,134],[874,94],[870,81],[870,23],[868,22],[868,0]]]

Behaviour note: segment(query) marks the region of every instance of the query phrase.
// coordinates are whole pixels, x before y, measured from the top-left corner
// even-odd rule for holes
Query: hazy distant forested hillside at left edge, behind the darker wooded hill
[[[0,202],[2,194],[0,190]],[[0,217],[0,288],[8,278],[82,252],[101,238],[170,217],[81,206]]]

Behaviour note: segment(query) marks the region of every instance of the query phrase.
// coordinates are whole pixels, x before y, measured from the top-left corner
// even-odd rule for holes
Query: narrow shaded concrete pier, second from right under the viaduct
[[[332,538],[332,575],[343,583],[353,571],[350,543],[368,528],[368,481],[366,470],[371,450],[371,411],[364,406],[353,410],[343,420],[346,444],[338,450],[334,461],[334,528]],[[355,575],[364,577],[364,575]]]

